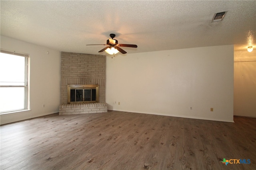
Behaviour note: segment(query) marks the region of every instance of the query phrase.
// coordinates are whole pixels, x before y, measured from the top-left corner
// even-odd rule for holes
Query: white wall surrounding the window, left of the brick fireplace
[[[0,123],[10,123],[58,113],[60,105],[61,53],[46,47],[1,36],[1,48],[30,55],[30,111],[0,115]],[[49,54],[47,54],[47,51]],[[3,74],[3,73],[0,73]],[[43,104],[45,107],[43,107]]]

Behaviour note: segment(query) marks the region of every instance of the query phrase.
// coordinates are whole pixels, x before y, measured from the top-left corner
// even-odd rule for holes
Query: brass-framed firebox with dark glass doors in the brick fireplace
[[[68,85],[68,104],[98,103],[98,91],[98,85]]]

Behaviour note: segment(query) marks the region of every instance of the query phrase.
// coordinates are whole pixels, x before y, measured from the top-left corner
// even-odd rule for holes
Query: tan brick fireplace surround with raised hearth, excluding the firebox
[[[62,52],[59,115],[107,112],[105,82],[106,56]],[[98,85],[97,103],[68,102],[68,85]]]

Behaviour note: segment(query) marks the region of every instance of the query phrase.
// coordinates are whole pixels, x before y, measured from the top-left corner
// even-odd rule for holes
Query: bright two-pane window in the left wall
[[[28,54],[1,49],[0,113],[29,108],[28,59]]]

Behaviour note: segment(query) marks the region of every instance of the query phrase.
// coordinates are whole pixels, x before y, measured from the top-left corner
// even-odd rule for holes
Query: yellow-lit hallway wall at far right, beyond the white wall
[[[234,115],[256,117],[256,50],[234,51]]]

